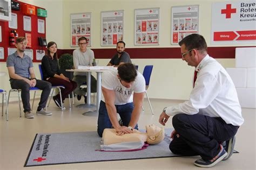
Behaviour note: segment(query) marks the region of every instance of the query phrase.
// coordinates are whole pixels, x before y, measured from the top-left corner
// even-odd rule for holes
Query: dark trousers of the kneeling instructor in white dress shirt
[[[174,137],[170,150],[180,155],[200,155],[211,160],[219,152],[219,145],[231,139],[239,126],[226,124],[220,117],[178,114],[172,118],[173,128],[180,137]]]

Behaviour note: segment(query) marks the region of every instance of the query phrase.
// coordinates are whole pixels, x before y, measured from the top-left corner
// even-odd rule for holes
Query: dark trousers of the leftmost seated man
[[[37,80],[36,86],[37,88],[43,90],[40,98],[40,102],[38,104],[37,110],[41,110],[45,108],[45,105],[47,103],[49,94],[51,92],[51,83],[43,81],[43,80]],[[21,89],[21,98],[23,103],[24,112],[31,111],[30,108],[30,86],[28,83],[26,83],[24,80],[18,80],[18,79],[11,79],[11,88],[12,89]]]

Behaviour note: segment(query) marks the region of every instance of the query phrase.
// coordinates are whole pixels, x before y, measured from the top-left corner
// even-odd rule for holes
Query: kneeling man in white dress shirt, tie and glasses
[[[159,123],[165,125],[173,116],[172,153],[200,155],[194,165],[212,167],[230,158],[235,133],[244,122],[237,91],[226,70],[207,54],[203,36],[191,34],[179,45],[182,60],[195,67],[193,89],[188,101],[164,108]]]

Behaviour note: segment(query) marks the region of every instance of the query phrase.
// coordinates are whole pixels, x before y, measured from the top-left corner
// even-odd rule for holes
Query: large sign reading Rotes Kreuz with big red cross
[[[212,44],[250,44],[256,41],[255,1],[212,4]]]

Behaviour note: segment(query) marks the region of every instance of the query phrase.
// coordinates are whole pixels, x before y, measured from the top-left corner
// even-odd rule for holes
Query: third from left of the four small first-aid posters
[[[159,45],[159,10],[159,8],[134,10],[134,45]]]

